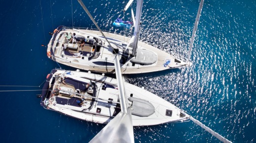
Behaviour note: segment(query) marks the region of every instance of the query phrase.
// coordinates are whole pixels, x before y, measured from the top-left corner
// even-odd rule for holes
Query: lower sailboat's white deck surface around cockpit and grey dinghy
[[[60,74],[60,73],[63,74],[64,72],[65,71],[57,71],[55,74]],[[111,82],[114,85],[117,84],[116,79],[102,76],[102,75],[92,74],[92,73],[71,71],[71,75],[65,74],[64,76],[72,77],[73,79],[76,79],[76,80],[83,80],[84,82],[88,82],[90,80],[81,78],[81,77],[95,78],[97,81],[104,81],[104,83]],[[112,98],[113,101],[118,102],[117,89],[107,88],[106,90],[102,90],[101,89],[103,85],[102,82],[96,82],[96,85],[97,85],[96,97],[103,98],[103,99]],[[64,84],[56,83],[53,88],[56,88],[56,86],[58,88],[65,87]],[[68,88],[70,88],[69,86],[70,85],[68,85]],[[183,118],[180,117],[181,110],[178,107],[160,98],[159,96],[154,95],[142,88],[131,85],[129,83],[125,83],[125,87],[126,87],[126,94],[128,95],[128,97],[130,94],[133,94],[133,97],[147,100],[150,103],[152,103],[153,106],[155,107],[155,113],[153,113],[148,117],[138,117],[138,116],[132,115],[133,126],[156,125],[156,124],[162,124],[167,122],[183,121],[187,119],[187,117],[183,117]],[[62,96],[61,94],[58,96],[62,98],[68,98],[67,96]],[[70,96],[74,97],[76,95],[70,95]],[[129,102],[129,104],[131,104],[131,102]],[[48,105],[48,108],[51,108],[55,111],[58,111],[60,113],[63,113],[71,117],[75,117],[75,118],[83,119],[87,121],[93,121],[97,123],[108,123],[113,118],[113,113],[115,111],[116,103],[110,104],[107,101],[102,101],[97,99],[94,102],[92,109],[88,110],[88,107],[89,107],[88,104],[84,104],[81,107],[75,107],[72,105],[58,104],[58,102],[55,102],[55,101],[52,101]],[[100,113],[96,112],[97,108],[101,109]],[[171,117],[165,115],[166,109],[172,111]]]

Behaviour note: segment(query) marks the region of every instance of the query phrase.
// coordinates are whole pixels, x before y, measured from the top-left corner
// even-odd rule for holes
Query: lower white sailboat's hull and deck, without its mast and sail
[[[103,75],[52,70],[48,74],[41,105],[77,119],[108,123],[122,111],[118,80]],[[122,80],[122,79],[120,79]],[[124,83],[133,126],[184,121],[188,115],[158,95]]]

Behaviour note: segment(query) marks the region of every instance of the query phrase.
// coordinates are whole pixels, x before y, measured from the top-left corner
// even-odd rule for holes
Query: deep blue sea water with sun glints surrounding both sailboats
[[[124,16],[128,0],[83,1],[101,29],[131,35],[112,26]],[[140,40],[186,57],[198,5],[199,0],[144,0]],[[96,28],[76,0],[1,0],[0,9],[1,91],[39,90],[51,69],[59,68],[41,46],[48,44],[48,32],[57,26]],[[125,20],[130,17],[129,9]],[[255,0],[205,0],[193,65],[125,75],[126,80],[184,109],[234,143],[256,143],[255,26]],[[1,143],[89,142],[104,127],[45,110],[37,94],[40,91],[0,92]],[[192,121],[134,127],[134,138],[143,143],[219,142]]]

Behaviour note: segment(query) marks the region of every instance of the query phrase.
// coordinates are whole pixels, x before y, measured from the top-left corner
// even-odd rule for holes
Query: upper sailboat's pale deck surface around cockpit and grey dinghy
[[[61,31],[61,32],[68,32],[68,31],[75,32],[77,35],[83,35],[86,37],[88,37],[88,35],[95,35],[95,37],[102,37],[99,31],[93,31],[93,30],[80,30],[83,32],[83,33],[80,33],[78,31],[73,31],[71,29],[67,29],[66,31]],[[86,35],[84,33],[88,33],[88,35]],[[128,37],[118,35],[118,34],[113,34],[113,33],[104,32],[104,34],[110,42],[118,44],[118,45],[127,44],[128,40],[130,39]],[[89,37],[93,38],[92,36],[89,36]],[[58,38],[59,37],[57,36],[56,39],[58,39]],[[50,51],[51,42],[52,41],[50,41],[50,43],[48,45],[48,49],[47,49],[48,51]],[[59,44],[56,47],[57,42]],[[103,41],[104,48],[101,48],[100,55],[98,56],[98,58],[92,59],[92,60],[88,60],[87,56],[75,57],[75,56],[64,55],[64,53],[62,52],[62,48],[61,48],[62,44],[64,44],[64,38],[60,38],[59,40],[56,40],[54,47],[53,47],[56,49],[55,57],[56,57],[57,62],[67,65],[67,66],[74,67],[74,68],[87,70],[87,71],[114,73],[114,71],[115,71],[114,66],[100,66],[100,65],[97,65],[94,63],[94,62],[99,62],[99,61],[114,63],[115,56],[112,53],[112,51],[113,51],[112,48],[109,47],[107,42]],[[116,48],[114,45],[112,45],[112,46],[114,48]],[[78,47],[77,52],[82,50],[81,48],[79,48],[79,45],[78,46],[76,45],[76,47]],[[129,73],[144,73],[144,72],[152,72],[152,71],[162,71],[162,70],[167,70],[167,69],[171,69],[171,68],[179,68],[179,67],[191,65],[191,63],[185,63],[177,58],[174,58],[170,54],[168,54],[164,51],[161,51],[158,48],[152,47],[152,46],[142,43],[142,42],[138,42],[138,48],[144,48],[144,49],[153,51],[158,56],[157,62],[155,62],[154,64],[150,64],[150,65],[135,64],[135,66],[132,66],[132,63],[129,61],[130,60],[129,59],[125,64],[121,64],[122,73],[129,74]],[[85,50],[85,49],[83,49],[83,50]],[[90,46],[86,47],[86,50],[92,51]],[[119,50],[119,51],[121,51],[121,50]],[[140,56],[139,54],[140,53],[137,53],[136,56]],[[120,55],[120,59],[121,59],[121,55]],[[168,64],[168,66],[164,67],[163,65],[166,62],[166,60],[170,60],[171,62]],[[177,60],[180,61],[180,63],[175,62]]]

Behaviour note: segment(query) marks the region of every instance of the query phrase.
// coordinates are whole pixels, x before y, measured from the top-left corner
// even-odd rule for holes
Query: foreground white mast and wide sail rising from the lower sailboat
[[[121,112],[112,119],[90,143],[134,143],[133,126],[130,107],[128,106],[119,58],[115,59],[116,76],[118,80]]]

